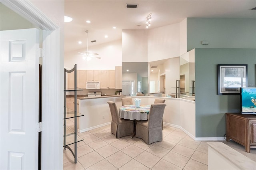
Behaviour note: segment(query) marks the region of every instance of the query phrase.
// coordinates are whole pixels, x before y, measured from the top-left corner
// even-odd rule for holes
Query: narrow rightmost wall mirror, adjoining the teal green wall
[[[194,49],[180,56],[180,97],[195,95]]]

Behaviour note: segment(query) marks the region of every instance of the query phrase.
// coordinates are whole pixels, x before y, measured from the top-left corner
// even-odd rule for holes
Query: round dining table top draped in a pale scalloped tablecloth
[[[140,107],[136,107],[136,105],[124,105],[119,109],[119,117],[123,119],[130,120],[148,120],[148,113],[150,110],[150,105],[140,105]]]

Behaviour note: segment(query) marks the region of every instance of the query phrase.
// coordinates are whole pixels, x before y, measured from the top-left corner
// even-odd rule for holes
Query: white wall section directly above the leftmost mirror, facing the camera
[[[122,62],[148,62],[147,30],[123,30]]]

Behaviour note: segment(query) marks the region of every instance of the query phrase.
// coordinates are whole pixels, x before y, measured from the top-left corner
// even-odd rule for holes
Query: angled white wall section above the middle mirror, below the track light
[[[148,30],[148,62],[180,56],[180,24]]]

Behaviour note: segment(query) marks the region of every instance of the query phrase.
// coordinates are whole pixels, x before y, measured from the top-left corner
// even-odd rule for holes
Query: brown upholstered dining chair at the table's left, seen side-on
[[[123,136],[132,135],[134,121],[120,119],[115,102],[108,101],[108,105],[109,105],[111,117],[112,117],[111,133],[114,134],[116,136],[116,138],[121,138]]]

